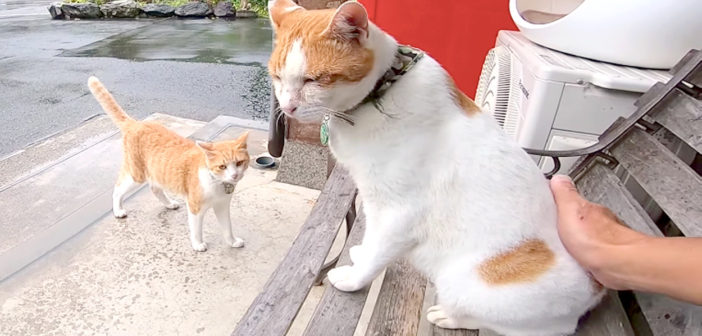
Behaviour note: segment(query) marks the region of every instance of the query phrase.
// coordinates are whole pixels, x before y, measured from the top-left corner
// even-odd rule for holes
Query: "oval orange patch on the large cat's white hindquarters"
[[[542,240],[527,240],[478,267],[480,277],[491,285],[534,281],[555,262],[553,251]]]

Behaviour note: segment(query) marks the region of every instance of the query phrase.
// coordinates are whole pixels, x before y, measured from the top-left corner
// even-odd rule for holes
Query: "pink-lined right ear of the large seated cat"
[[[368,13],[360,3],[348,1],[339,6],[326,32],[344,41],[363,45],[368,39]]]

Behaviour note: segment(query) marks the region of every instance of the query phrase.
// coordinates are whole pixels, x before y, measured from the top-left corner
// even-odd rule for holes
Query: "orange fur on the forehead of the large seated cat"
[[[281,6],[286,6],[286,3],[282,2]],[[280,73],[285,57],[297,40],[300,40],[307,61],[305,76],[322,86],[339,81],[358,82],[373,68],[372,50],[356,41],[335,38],[327,29],[334,18],[335,9],[290,11],[274,6],[272,10],[276,12],[273,17],[276,41],[268,63],[271,75]]]

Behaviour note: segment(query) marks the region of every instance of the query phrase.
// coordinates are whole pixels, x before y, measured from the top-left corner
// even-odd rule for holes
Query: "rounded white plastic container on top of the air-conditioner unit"
[[[669,69],[702,49],[702,0],[510,0],[528,39],[629,66]]]

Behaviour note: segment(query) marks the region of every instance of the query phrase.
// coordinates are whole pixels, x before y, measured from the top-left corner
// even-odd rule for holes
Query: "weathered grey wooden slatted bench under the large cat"
[[[702,53],[688,54],[673,73],[667,84],[659,83],[641,97],[631,118],[621,120],[601,137],[599,147],[581,158],[572,176],[588,199],[608,206],[636,230],[657,236],[702,236]],[[694,150],[694,158],[688,161],[696,165],[697,172],[669,149],[681,145]],[[627,190],[622,177],[635,180],[664,215],[652,219]],[[350,263],[348,248],[360,243],[364,229],[362,211],[357,217],[348,216],[355,197],[351,178],[343,169],[334,168],[288,254],[233,335],[287,333],[310,289],[324,276],[324,260],[345,218],[353,226],[338,262]],[[405,261],[389,266],[365,335],[416,335],[425,313],[427,286]],[[326,285],[304,335],[353,335],[368,293],[368,288],[343,293]],[[428,332],[437,336],[494,335],[487,330],[433,326]],[[610,292],[582,318],[576,334],[702,335],[702,308],[660,295]]]

